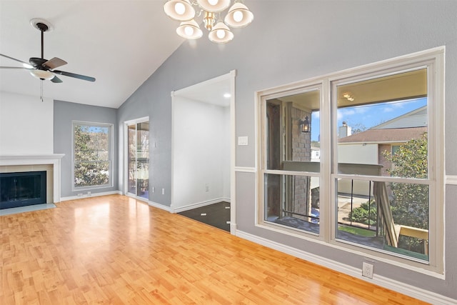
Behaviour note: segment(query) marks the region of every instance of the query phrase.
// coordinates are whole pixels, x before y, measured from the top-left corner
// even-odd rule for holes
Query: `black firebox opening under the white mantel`
[[[0,209],[46,204],[46,171],[0,173]]]

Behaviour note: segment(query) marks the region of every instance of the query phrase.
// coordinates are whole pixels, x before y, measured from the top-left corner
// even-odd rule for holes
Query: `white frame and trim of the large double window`
[[[256,191],[256,226],[271,231],[276,231],[281,234],[295,236],[300,239],[317,242],[318,244],[326,244],[336,249],[348,251],[350,253],[361,254],[371,259],[385,261],[395,266],[408,267],[423,274],[428,274],[438,278],[444,278],[444,194],[445,194],[445,154],[444,154],[444,58],[445,47],[440,46],[426,51],[420,51],[406,56],[399,56],[393,59],[378,61],[373,64],[358,66],[344,71],[338,71],[324,76],[318,76],[303,81],[297,81],[292,84],[277,86],[271,89],[257,91],[256,96],[256,169],[257,169],[257,191]],[[331,116],[331,109],[336,109],[336,99],[332,96],[332,86],[335,84],[342,84],[343,81],[356,79],[361,81],[363,77],[369,75],[376,75],[381,77],[393,72],[408,69],[418,69],[419,67],[428,67],[428,146],[433,149],[428,149],[429,157],[429,176],[426,181],[416,181],[414,183],[425,183],[430,185],[430,211],[429,211],[429,262],[423,264],[421,261],[414,261],[411,258],[402,258],[395,256],[391,253],[383,253],[382,251],[374,251],[372,249],[365,249],[360,245],[351,245],[343,243],[336,239],[336,211],[333,211],[333,205],[323,204],[331,202],[331,194],[335,189],[336,176],[342,177],[343,175],[335,175],[332,173],[332,164],[337,164],[334,156],[329,156],[331,151],[335,149],[336,139],[331,139],[327,136],[321,139],[321,226],[319,236],[313,236],[306,231],[296,231],[291,228],[282,228],[276,224],[271,224],[263,219],[264,211],[264,185],[263,175],[268,173],[264,164],[264,144],[263,139],[265,133],[263,132],[265,112],[263,105],[266,100],[274,99],[286,95],[301,93],[303,89],[321,84],[321,134],[331,135],[333,130],[332,126],[336,126],[336,115]],[[352,81],[351,81],[352,82]],[[333,103],[333,105],[331,104]],[[330,121],[329,121],[330,120]],[[438,124],[436,122],[439,122]],[[332,159],[333,158],[333,159]],[[271,171],[273,173],[273,171]],[[281,174],[290,174],[285,171],[280,171]],[[279,174],[279,173],[275,173]],[[293,174],[296,174],[295,172]],[[303,173],[311,174],[311,173]],[[312,173],[315,174],[315,173]],[[357,176],[357,179],[360,179]],[[386,178],[393,179],[395,178]],[[406,181],[403,179],[402,181]],[[438,203],[438,204],[435,204]],[[328,211],[330,209],[330,211]],[[324,224],[324,225],[322,225]],[[328,225],[330,224],[330,225]]]

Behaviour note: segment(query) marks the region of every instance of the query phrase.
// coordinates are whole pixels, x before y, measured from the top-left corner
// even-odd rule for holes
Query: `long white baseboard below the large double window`
[[[235,229],[235,228],[233,228],[233,229]],[[234,235],[236,235],[242,239],[247,239],[248,241],[253,241],[256,244],[261,244],[262,246],[267,246],[268,248],[275,249],[277,251],[281,251],[281,252],[289,254],[291,256],[298,257],[299,259],[311,261],[314,264],[325,266],[327,268],[336,270],[343,274],[348,274],[349,276],[353,276],[358,279],[362,279],[363,281],[369,281],[370,283],[376,284],[378,286],[382,286],[386,289],[391,289],[393,291],[397,291],[401,294],[406,294],[407,296],[411,296],[413,298],[420,299],[422,301],[426,301],[431,304],[449,304],[449,305],[457,304],[456,299],[451,299],[451,298],[448,298],[447,296],[442,296],[441,294],[436,294],[435,292],[432,292],[432,291],[426,291],[426,290],[420,289],[416,286],[404,284],[401,281],[395,281],[393,279],[387,278],[386,276],[379,276],[377,274],[374,274],[373,279],[368,279],[368,278],[362,276],[361,269],[355,268],[353,266],[341,264],[338,261],[326,259],[321,256],[316,256],[314,254],[293,248],[291,246],[279,244],[276,241],[270,241],[268,239],[264,239],[263,237],[255,236],[253,234],[249,234],[249,233],[239,231],[239,230],[237,230],[236,234],[234,234]]]

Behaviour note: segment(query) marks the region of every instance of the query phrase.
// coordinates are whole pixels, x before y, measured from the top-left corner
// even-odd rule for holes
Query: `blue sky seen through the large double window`
[[[363,106],[353,106],[338,109],[338,126],[346,121],[351,128],[360,128],[365,126],[370,129],[373,126],[379,125],[385,121],[396,118],[410,111],[426,106],[427,99],[409,99],[404,101],[389,101],[386,103],[377,103]],[[311,140],[318,141],[319,126],[319,111],[314,111],[311,114]]]

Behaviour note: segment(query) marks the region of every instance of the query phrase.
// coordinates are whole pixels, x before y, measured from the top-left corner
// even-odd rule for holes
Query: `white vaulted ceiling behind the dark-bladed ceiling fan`
[[[164,0],[0,0],[0,54],[29,61],[41,56],[41,34],[33,18],[49,21],[44,58],[59,57],[61,71],[93,76],[95,82],[59,76],[44,81],[45,98],[118,108],[179,47],[176,21]],[[0,66],[21,66],[0,57]],[[40,96],[41,81],[24,69],[0,69],[0,91]]]

